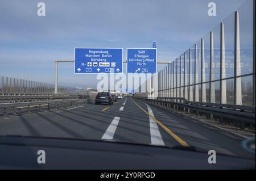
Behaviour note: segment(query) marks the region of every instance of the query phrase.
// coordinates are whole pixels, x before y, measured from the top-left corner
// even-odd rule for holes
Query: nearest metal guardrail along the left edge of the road
[[[51,110],[60,107],[76,106],[87,103],[88,99],[51,100],[26,103],[5,103],[0,104],[0,117],[8,115],[21,115],[35,111]]]

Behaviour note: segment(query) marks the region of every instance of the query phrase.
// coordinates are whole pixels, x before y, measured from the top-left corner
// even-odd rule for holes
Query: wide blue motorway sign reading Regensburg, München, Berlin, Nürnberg
[[[75,74],[122,73],[122,48],[75,48]]]

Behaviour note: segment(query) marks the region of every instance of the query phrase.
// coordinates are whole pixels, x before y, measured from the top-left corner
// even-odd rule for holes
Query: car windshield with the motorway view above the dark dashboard
[[[0,137],[255,159],[253,14],[253,0],[1,0]]]

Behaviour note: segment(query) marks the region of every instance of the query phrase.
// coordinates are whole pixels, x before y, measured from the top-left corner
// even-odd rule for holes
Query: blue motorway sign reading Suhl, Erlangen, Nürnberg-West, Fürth
[[[127,48],[127,73],[156,73],[155,48]]]

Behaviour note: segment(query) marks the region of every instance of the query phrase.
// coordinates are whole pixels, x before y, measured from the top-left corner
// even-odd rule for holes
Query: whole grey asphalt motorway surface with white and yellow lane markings
[[[244,138],[134,98],[118,100],[112,106],[84,104],[0,117],[0,135],[194,146],[238,157],[255,157],[242,148]]]

